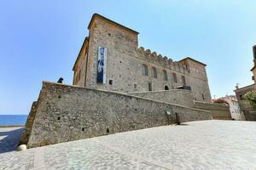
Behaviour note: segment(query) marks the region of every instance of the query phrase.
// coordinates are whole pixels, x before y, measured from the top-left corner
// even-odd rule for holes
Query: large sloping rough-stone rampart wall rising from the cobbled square
[[[207,111],[127,94],[43,82],[27,147],[209,119],[212,116]]]

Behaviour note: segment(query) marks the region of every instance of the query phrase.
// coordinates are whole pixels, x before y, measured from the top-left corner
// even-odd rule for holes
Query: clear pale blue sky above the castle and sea
[[[92,14],[138,31],[139,46],[207,64],[212,98],[252,84],[256,1],[0,0],[0,114],[28,114],[42,81],[73,82]]]

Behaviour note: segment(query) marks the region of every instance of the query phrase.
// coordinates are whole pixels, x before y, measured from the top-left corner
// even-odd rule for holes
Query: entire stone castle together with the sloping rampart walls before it
[[[231,119],[212,104],[206,65],[138,48],[137,31],[94,14],[73,85],[43,82],[20,144],[28,148],[173,123]],[[195,101],[196,100],[196,101]]]

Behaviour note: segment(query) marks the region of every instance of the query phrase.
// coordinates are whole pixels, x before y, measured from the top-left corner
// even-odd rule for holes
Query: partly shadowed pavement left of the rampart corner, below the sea
[[[24,127],[0,128],[0,154],[16,150],[23,129]]]

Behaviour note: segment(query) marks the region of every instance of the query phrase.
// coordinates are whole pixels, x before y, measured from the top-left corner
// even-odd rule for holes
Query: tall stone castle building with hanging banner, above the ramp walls
[[[94,14],[73,66],[73,85],[123,93],[191,89],[193,99],[211,102],[205,64],[189,57],[173,61],[138,48],[138,32]],[[104,50],[104,81],[99,54]],[[100,75],[100,76],[99,76]]]

